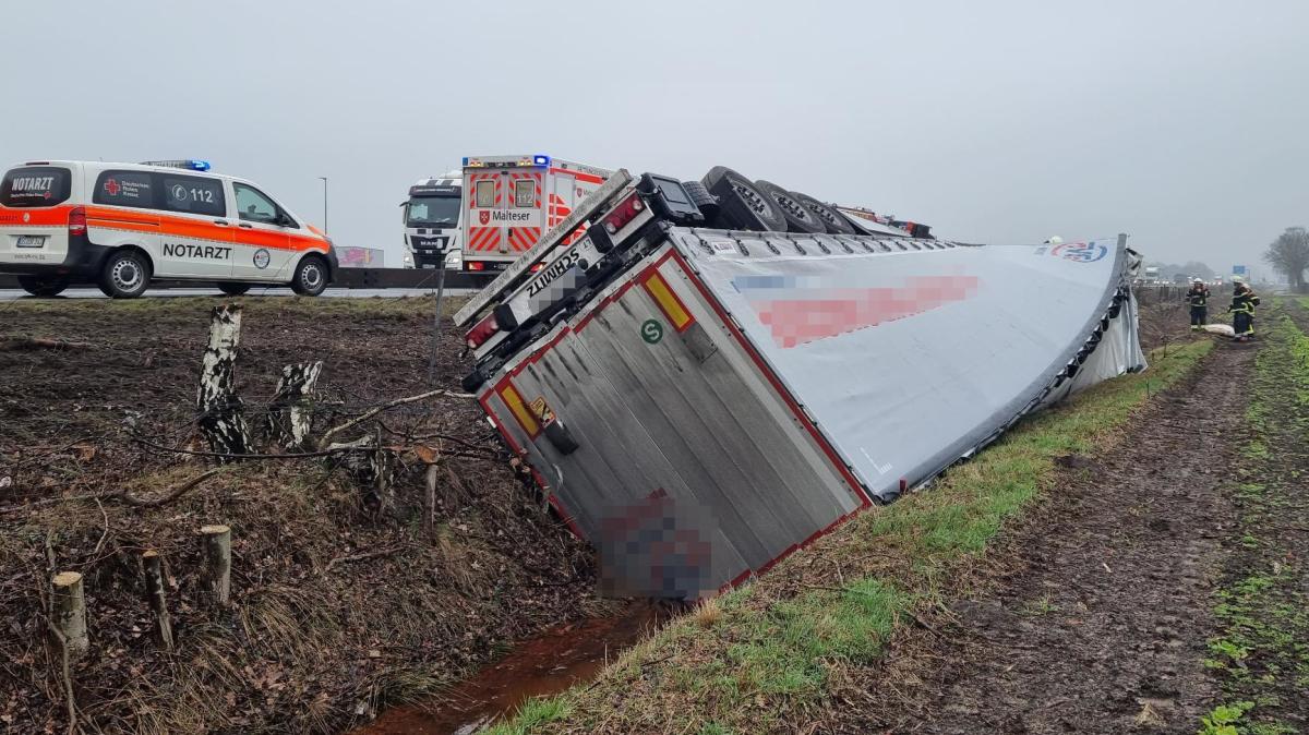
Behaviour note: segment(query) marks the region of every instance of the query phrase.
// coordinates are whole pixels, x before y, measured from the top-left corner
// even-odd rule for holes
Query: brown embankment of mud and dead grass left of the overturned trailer
[[[427,379],[431,298],[237,299],[237,387],[258,426],[284,365],[322,360],[314,430]],[[425,701],[546,628],[607,615],[590,552],[546,514],[469,399],[387,411],[398,453],[378,510],[338,460],[242,462],[157,507],[211,466],[196,385],[217,298],[24,301],[0,307],[0,730],[68,725],[48,645],[47,581],[85,575],[90,651],[71,666],[86,731],[340,731]],[[446,314],[450,311],[448,305]],[[466,364],[446,320],[436,386]],[[124,422],[127,420],[127,422]],[[128,424],[131,428],[128,428]],[[441,456],[437,513],[420,518],[424,456]],[[233,530],[233,602],[208,603],[196,530]],[[161,650],[140,555],[169,565],[177,646]]]

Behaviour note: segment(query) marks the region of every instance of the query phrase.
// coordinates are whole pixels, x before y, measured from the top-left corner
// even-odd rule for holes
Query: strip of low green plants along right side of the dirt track
[[[1223,704],[1200,722],[1202,735],[1280,735],[1309,691],[1309,594],[1304,587],[1302,467],[1309,412],[1309,337],[1283,302],[1263,331],[1246,411],[1250,436],[1233,488],[1240,547],[1215,591],[1223,630],[1208,641],[1206,666],[1217,672]]]

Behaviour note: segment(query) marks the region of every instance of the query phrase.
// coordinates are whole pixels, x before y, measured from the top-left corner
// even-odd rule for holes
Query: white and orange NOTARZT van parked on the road
[[[33,296],[94,282],[134,298],[152,280],[318,296],[336,267],[326,234],[206,161],[33,161],[0,179],[0,273]]]

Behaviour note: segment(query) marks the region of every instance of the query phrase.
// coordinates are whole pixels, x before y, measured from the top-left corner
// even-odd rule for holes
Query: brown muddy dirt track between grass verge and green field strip
[[[1114,449],[1069,458],[1007,532],[1012,569],[952,625],[907,701],[868,731],[1195,732],[1217,696],[1203,667],[1211,592],[1236,522],[1233,442],[1257,345],[1220,344],[1155,399]]]

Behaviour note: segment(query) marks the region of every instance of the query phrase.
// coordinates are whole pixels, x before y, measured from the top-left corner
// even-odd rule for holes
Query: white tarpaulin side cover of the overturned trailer
[[[1145,366],[1126,238],[814,258],[698,237],[679,246],[692,269],[882,500],[1042,402]]]

